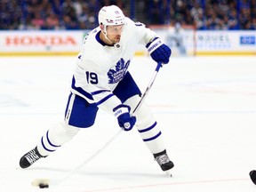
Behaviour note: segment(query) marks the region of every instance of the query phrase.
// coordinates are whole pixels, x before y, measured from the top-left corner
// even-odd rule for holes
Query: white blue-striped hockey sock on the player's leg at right
[[[135,95],[132,98],[126,100],[124,104],[131,107],[131,113],[140,101],[139,95]],[[142,103],[140,108],[135,111],[136,127],[140,132],[140,137],[151,151],[152,154],[159,153],[165,149],[162,133],[159,126],[156,123],[156,119],[153,116],[150,108]]]

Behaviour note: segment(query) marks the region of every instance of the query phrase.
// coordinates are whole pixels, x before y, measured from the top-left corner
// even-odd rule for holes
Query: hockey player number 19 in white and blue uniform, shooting
[[[161,131],[146,104],[130,115],[140,101],[141,92],[128,71],[137,44],[148,48],[153,60],[169,62],[171,49],[156,33],[133,22],[116,6],[102,7],[98,28],[84,37],[77,56],[65,118],[42,136],[36,148],[20,158],[20,167],[28,168],[42,157],[71,140],[81,128],[94,124],[99,108],[116,116],[124,131],[133,125],[163,171],[174,166],[167,156]]]

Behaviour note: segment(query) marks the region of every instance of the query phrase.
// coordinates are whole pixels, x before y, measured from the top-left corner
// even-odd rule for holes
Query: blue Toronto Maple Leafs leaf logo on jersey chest
[[[115,69],[111,68],[108,71],[108,84],[116,84],[117,82],[121,81],[130,65],[130,60],[126,63],[122,58],[116,63]]]

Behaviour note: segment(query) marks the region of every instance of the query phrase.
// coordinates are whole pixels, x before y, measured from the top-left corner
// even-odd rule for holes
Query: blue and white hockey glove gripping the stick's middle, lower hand
[[[132,130],[133,125],[136,122],[135,116],[130,116],[131,108],[126,105],[118,105],[113,108],[114,115],[117,118],[118,124],[124,131]]]

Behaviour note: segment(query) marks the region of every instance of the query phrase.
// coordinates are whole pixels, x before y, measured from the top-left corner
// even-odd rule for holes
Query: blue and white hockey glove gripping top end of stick
[[[148,52],[153,60],[167,64],[171,57],[172,50],[162,42],[159,37],[146,45]]]

